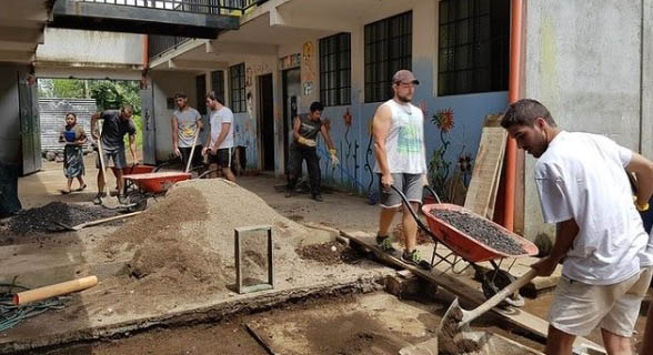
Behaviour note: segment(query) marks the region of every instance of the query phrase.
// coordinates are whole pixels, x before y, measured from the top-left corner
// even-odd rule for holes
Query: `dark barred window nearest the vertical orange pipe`
[[[510,0],[441,0],[438,94],[508,90]]]

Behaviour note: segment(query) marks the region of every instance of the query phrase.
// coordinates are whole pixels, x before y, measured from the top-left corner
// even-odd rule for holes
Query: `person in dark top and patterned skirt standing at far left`
[[[68,184],[62,194],[70,193],[72,180],[77,178],[79,181],[79,189],[83,191],[87,187],[84,183],[84,155],[82,145],[88,141],[84,130],[77,124],[77,115],[72,112],[66,115],[66,126],[59,135],[59,142],[66,143],[63,148],[63,174],[68,178]]]

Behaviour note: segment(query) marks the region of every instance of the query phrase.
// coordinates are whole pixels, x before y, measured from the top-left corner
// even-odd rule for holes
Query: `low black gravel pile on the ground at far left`
[[[50,202],[44,206],[22,210],[9,222],[9,230],[18,234],[31,232],[56,232],[64,230],[54,221],[69,226],[110,217],[117,212],[101,206],[82,206],[62,202]]]

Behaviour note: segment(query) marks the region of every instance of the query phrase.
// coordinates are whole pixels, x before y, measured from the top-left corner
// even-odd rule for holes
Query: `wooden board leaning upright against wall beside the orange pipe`
[[[508,132],[503,128],[483,128],[468,187],[464,207],[488,219],[492,219],[494,214],[506,138]]]

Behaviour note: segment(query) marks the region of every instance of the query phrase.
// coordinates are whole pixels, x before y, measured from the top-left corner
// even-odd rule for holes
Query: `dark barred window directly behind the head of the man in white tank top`
[[[365,102],[392,98],[392,75],[412,69],[412,11],[365,24]]]

